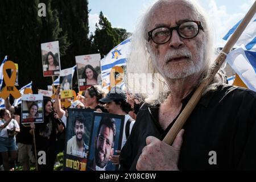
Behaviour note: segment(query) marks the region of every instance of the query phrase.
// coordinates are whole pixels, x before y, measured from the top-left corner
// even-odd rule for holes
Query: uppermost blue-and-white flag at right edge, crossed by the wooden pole
[[[222,39],[228,40],[241,22],[242,20],[234,25]],[[245,28],[245,31],[243,31],[242,35],[237,40],[236,44],[237,46],[244,45],[247,50],[256,51],[256,14],[253,16],[250,23]]]

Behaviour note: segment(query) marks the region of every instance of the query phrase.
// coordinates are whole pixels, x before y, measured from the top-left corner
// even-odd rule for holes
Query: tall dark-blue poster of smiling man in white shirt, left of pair
[[[86,169],[93,111],[92,109],[68,109],[64,155],[65,171],[85,171]],[[79,162],[79,165],[74,166],[74,162]]]

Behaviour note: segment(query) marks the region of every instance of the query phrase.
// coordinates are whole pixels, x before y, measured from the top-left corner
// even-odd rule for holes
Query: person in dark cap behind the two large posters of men
[[[131,105],[126,101],[126,94],[122,92],[120,88],[113,88],[106,95],[106,97],[100,100],[101,104],[105,104],[106,110],[110,114],[121,114],[125,115],[125,123],[123,127],[123,137],[122,137],[122,145],[121,148],[125,145],[127,138],[131,133],[131,129],[135,123],[135,120],[130,117],[128,114],[129,111],[132,110]],[[119,164],[119,153],[120,151],[116,151],[117,155],[110,156],[110,161],[113,164]]]

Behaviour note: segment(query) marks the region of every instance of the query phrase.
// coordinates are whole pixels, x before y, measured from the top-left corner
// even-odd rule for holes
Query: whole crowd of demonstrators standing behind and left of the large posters
[[[105,92],[103,92],[99,86],[90,86],[86,89],[84,96],[80,97],[80,100],[73,101],[69,108],[89,108],[104,113],[125,115],[125,127],[123,129],[122,136],[123,147],[135,122],[135,120],[128,114],[133,110],[133,108],[127,102],[126,94],[123,92],[115,92],[105,95]],[[135,99],[133,102],[133,106],[137,104]],[[57,153],[64,151],[65,127],[67,126],[68,117],[67,110],[64,110],[61,107],[59,87],[55,93],[54,106],[51,98],[44,98],[43,100],[43,123],[19,123],[20,115],[22,115],[21,107],[20,105],[16,107],[11,106],[8,98],[5,100],[5,107],[6,109],[0,110],[0,151],[5,170],[9,170],[14,167],[17,151],[18,162],[22,165],[23,171],[30,170],[31,164],[38,163],[36,159],[40,156],[38,153],[39,151],[45,152],[46,164],[38,163],[38,170],[53,170]],[[38,105],[31,102],[30,105],[28,105],[28,118],[38,117],[38,109]],[[9,110],[15,115],[11,116]],[[79,119],[76,121],[76,124],[80,125]],[[18,133],[16,135],[16,140],[15,135],[10,137],[11,132],[7,135],[7,131],[9,130],[15,130],[16,133]],[[35,143],[33,137],[35,137]],[[112,154],[109,158],[113,164],[119,164],[120,151],[116,152],[117,155]]]

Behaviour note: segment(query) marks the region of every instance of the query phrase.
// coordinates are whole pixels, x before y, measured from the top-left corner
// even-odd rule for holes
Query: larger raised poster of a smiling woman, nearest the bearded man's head
[[[98,82],[101,82],[100,60],[99,53],[76,56],[79,91],[85,91],[88,86],[98,85]]]

